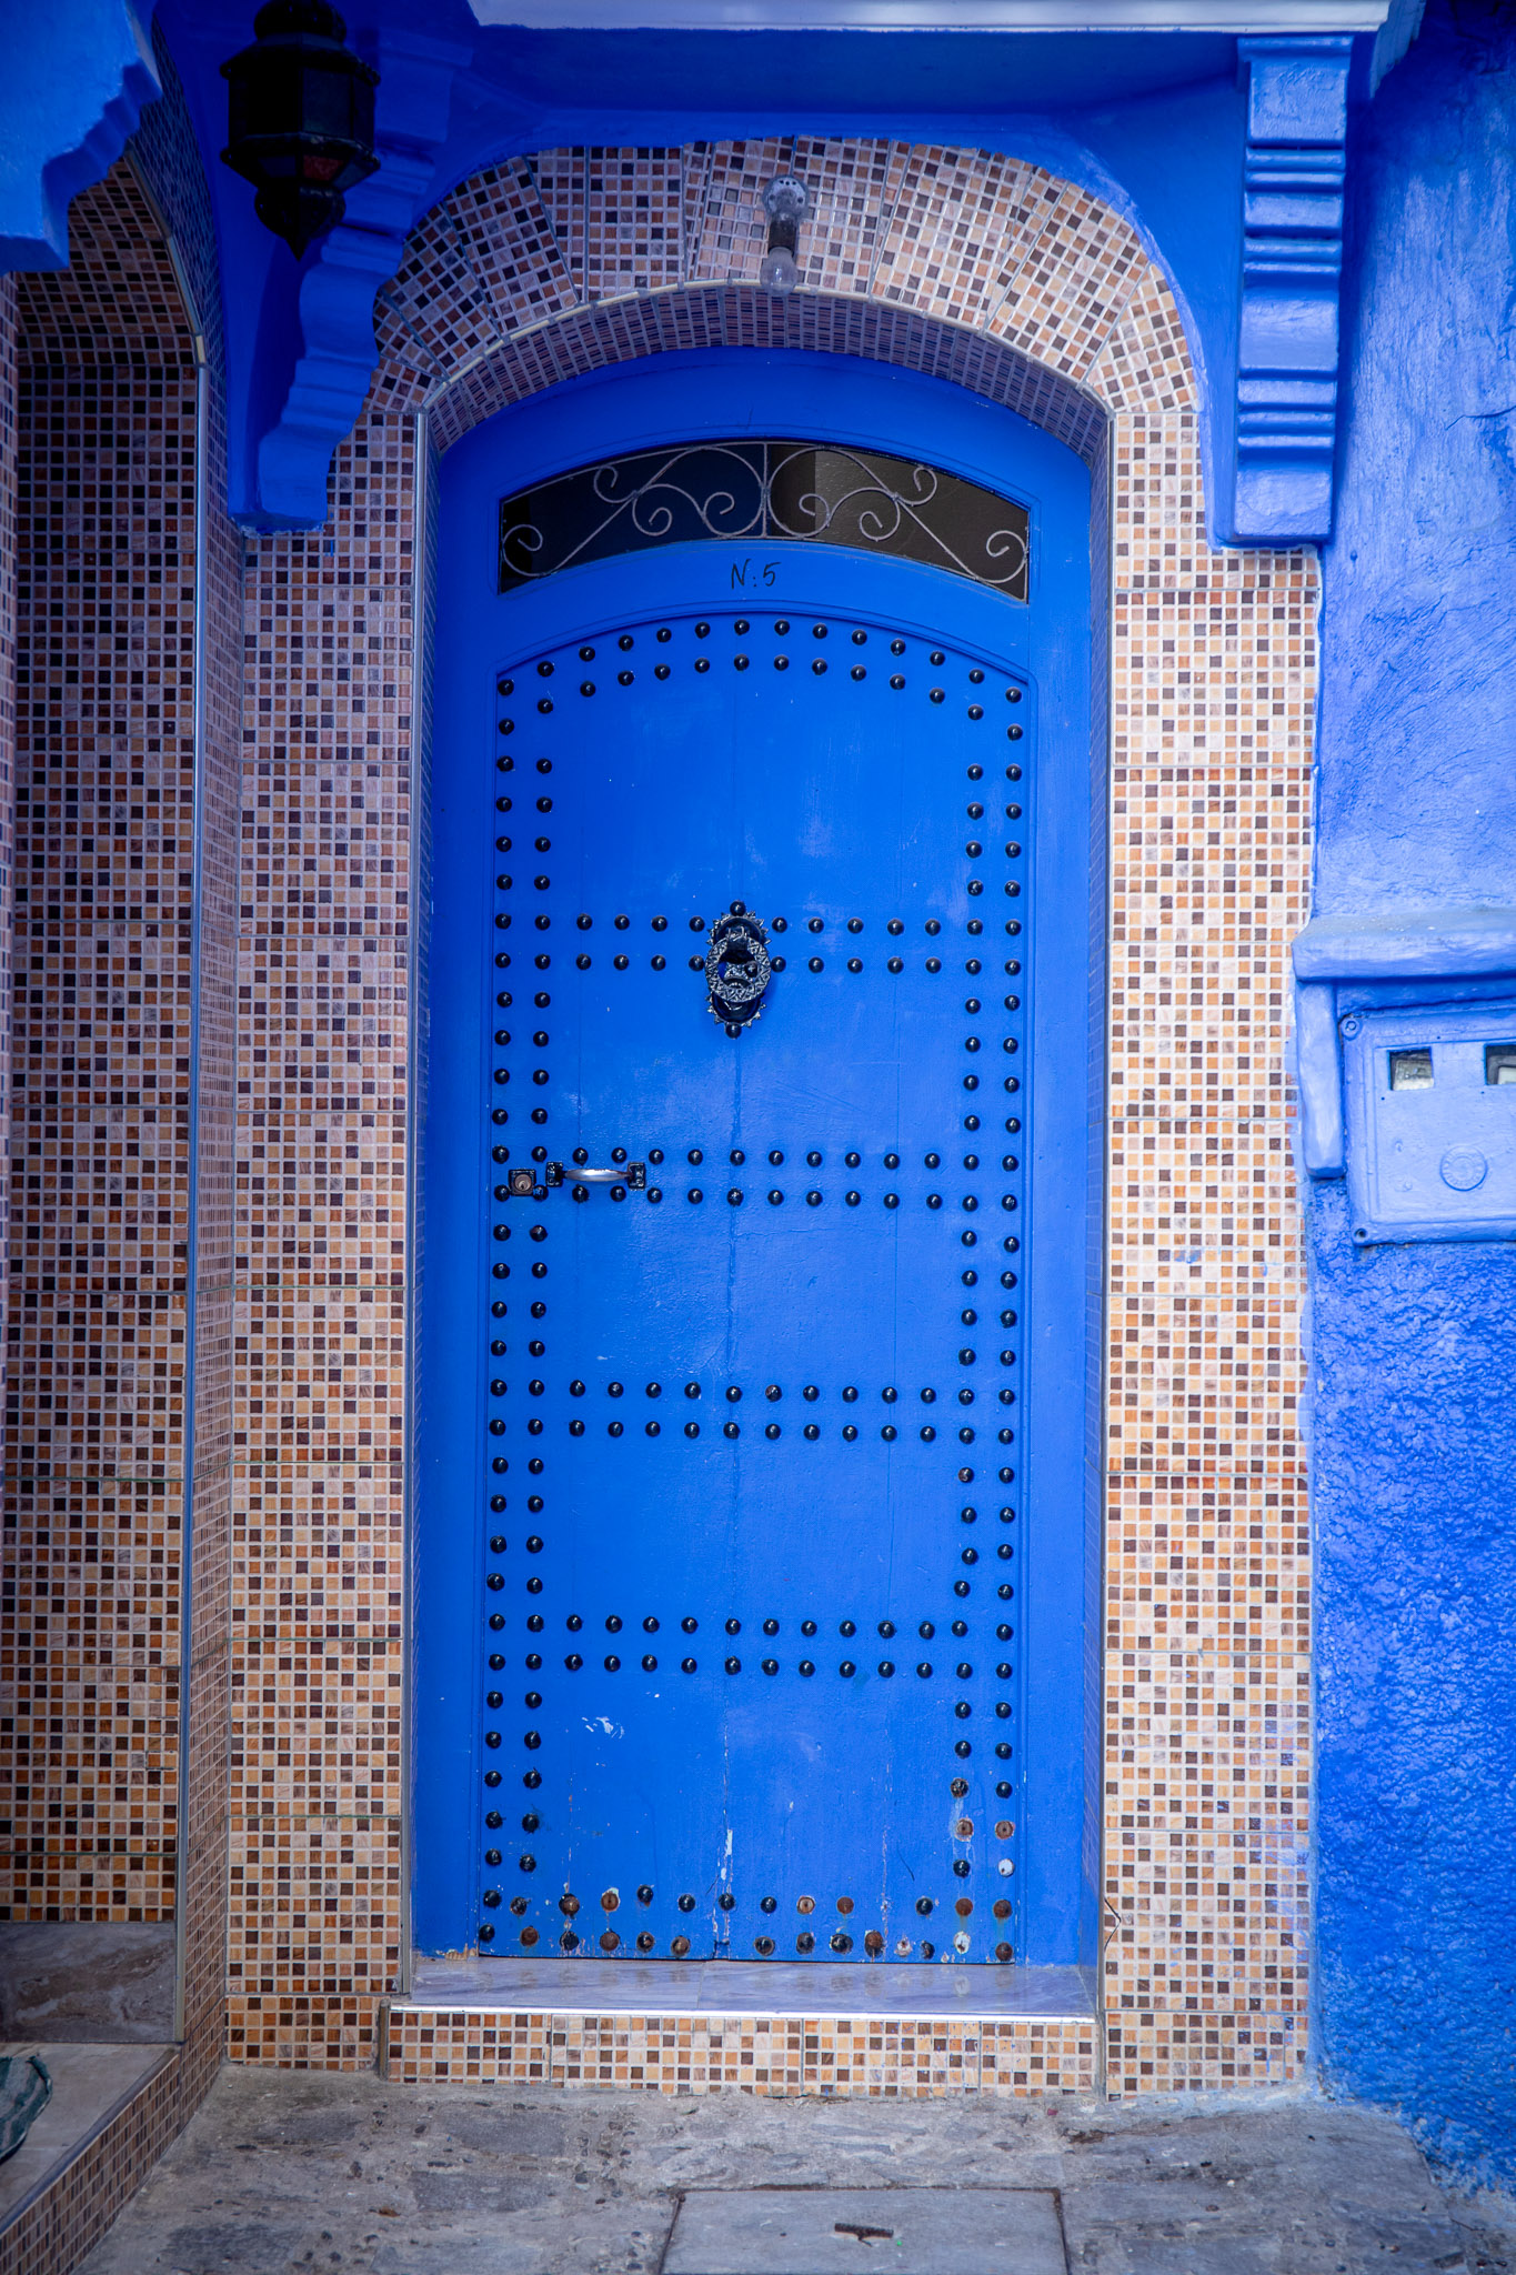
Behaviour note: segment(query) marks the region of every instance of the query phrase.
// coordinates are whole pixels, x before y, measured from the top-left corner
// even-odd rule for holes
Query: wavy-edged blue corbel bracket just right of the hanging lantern
[[[432,200],[455,77],[470,50],[382,32],[375,61],[380,171],[350,191],[345,221],[320,239],[300,278],[300,355],[257,444],[255,496],[232,500],[236,519],[259,530],[309,530],[327,519],[332,453],[352,432],[373,378],[373,298]]]

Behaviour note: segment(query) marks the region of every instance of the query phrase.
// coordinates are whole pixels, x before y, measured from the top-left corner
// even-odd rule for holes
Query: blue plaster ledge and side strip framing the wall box
[[[1459,1001],[1516,983],[1516,908],[1386,910],[1316,917],[1293,946],[1300,1163],[1309,1176],[1346,1169],[1339,1017],[1366,1001]],[[1343,994],[1350,1006],[1343,1003]]]

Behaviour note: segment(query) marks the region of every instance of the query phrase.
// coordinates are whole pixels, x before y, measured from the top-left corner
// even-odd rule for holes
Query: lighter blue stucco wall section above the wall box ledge
[[[1516,20],[1357,111],[1316,912],[1516,899]]]

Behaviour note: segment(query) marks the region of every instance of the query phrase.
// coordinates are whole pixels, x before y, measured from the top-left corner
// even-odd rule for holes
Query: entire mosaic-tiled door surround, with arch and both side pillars
[[[814,193],[789,303],[755,289],[782,164]],[[366,2066],[384,2032],[405,2075],[559,2059],[541,2018],[382,2016],[405,1934],[411,414],[445,448],[580,371],[782,344],[952,378],[1100,473],[1109,455],[1109,2086],[1298,2077],[1309,1574],[1282,1040],[1314,557],[1207,546],[1173,298],[1121,218],[1018,159],[807,139],[514,159],[418,223],[377,330],[325,532],[261,541],[248,582],[232,2052]],[[595,2073],[632,2063],[634,2027],[652,2061],[652,2022],[600,2018]],[[1098,2059],[1064,2057],[1080,2077]],[[789,2077],[789,2043],[764,2066]]]

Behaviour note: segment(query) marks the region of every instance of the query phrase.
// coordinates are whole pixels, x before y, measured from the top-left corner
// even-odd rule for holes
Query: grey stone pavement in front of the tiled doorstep
[[[1314,2098],[670,2100],[227,2068],[84,2275],[1516,2275],[1502,2211],[1443,2195],[1391,2118]]]

